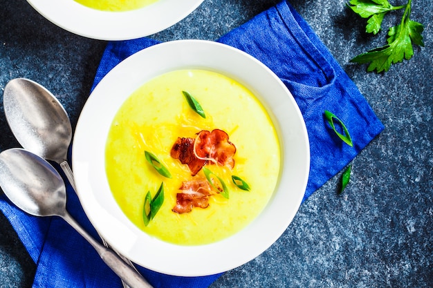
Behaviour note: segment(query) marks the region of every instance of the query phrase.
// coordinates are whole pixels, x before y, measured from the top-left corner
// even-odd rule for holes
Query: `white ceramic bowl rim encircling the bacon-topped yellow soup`
[[[249,88],[273,119],[282,151],[279,183],[264,211],[230,238],[191,247],[152,238],[130,222],[111,194],[104,168],[109,128],[125,99],[149,79],[182,68],[214,70]],[[100,81],[77,123],[73,171],[84,211],[94,227],[120,253],[138,265],[161,273],[204,276],[243,265],[268,249],[284,233],[305,192],[309,151],[300,110],[286,86],[271,70],[230,46],[212,41],[181,40],[137,52]]]

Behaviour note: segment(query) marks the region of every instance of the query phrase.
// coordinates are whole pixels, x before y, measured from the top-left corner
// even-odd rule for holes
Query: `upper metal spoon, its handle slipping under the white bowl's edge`
[[[35,81],[17,78],[6,84],[3,106],[10,130],[19,144],[60,164],[76,191],[71,167],[66,162],[72,139],[71,122],[57,98]]]

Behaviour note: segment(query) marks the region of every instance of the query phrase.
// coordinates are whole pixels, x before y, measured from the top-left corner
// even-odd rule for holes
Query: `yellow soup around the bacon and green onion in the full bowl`
[[[205,112],[197,114],[183,95],[187,91]],[[206,180],[203,169],[189,167],[170,155],[178,137],[195,139],[200,131],[220,129],[236,147],[234,166],[209,163],[212,178],[221,178],[229,198],[216,193],[207,208],[175,213],[176,194],[184,181]],[[172,178],[163,177],[145,158],[153,153]],[[277,185],[280,149],[277,133],[264,107],[237,81],[208,70],[175,70],[138,88],[113,119],[105,151],[107,178],[113,197],[127,217],[151,236],[175,244],[216,242],[246,227],[264,209]],[[239,189],[232,175],[250,191]],[[145,226],[142,214],[163,183],[164,202]],[[221,183],[221,182],[220,182]]]

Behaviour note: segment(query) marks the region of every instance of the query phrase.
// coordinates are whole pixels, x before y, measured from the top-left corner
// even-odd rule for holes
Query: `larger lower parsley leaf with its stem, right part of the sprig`
[[[401,62],[403,59],[411,59],[414,55],[412,42],[418,46],[424,46],[423,36],[421,35],[424,30],[423,24],[409,19],[411,2],[412,0],[409,0],[406,5],[401,23],[398,26],[389,28],[388,44],[358,55],[351,59],[351,62],[358,64],[371,62],[367,72],[376,70],[377,73],[380,73],[382,71],[386,72],[392,64]]]

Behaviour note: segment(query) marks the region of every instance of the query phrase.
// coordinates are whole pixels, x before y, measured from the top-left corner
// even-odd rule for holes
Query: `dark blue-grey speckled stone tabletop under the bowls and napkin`
[[[150,37],[214,40],[278,2],[205,0]],[[433,287],[433,1],[412,1],[411,18],[425,25],[425,47],[414,46],[413,59],[385,74],[349,62],[385,44],[385,31],[367,35],[365,21],[345,0],[290,2],[386,128],[354,160],[342,195],[338,174],[302,204],[270,249],[211,287]],[[400,17],[389,15],[384,26]],[[25,0],[0,0],[0,19],[0,89],[15,77],[38,81],[64,104],[75,127],[106,42],[57,28]],[[15,146],[1,106],[0,151]],[[34,274],[35,264],[0,213],[0,287],[31,287]]]

